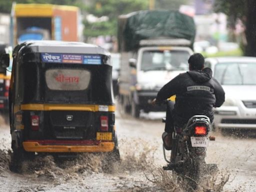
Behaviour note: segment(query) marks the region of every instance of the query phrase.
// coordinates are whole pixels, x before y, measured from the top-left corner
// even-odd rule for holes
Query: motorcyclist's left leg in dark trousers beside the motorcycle
[[[162,133],[162,140],[163,146],[167,150],[171,150],[171,142],[172,142],[172,132],[174,130],[173,126],[173,110],[174,102],[168,101],[167,108],[166,108],[166,121],[165,121],[165,128]]]

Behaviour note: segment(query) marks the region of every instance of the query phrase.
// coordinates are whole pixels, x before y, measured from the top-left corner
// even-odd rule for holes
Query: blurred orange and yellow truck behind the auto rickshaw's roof
[[[12,4],[10,44],[27,40],[79,41],[79,8],[55,4]]]

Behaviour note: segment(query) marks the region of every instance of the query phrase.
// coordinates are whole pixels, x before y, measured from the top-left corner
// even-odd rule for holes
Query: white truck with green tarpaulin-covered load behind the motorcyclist
[[[193,18],[176,10],[140,10],[118,16],[119,101],[126,113],[164,111],[150,101],[188,70],[195,37]]]

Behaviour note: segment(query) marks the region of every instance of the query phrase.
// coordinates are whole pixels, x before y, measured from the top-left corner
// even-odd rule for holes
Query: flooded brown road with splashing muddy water
[[[166,164],[160,139],[163,115],[142,114],[137,120],[117,114],[121,162],[111,169],[103,168],[100,154],[82,154],[63,162],[55,162],[52,156],[38,156],[24,163],[22,174],[8,169],[9,128],[0,120],[0,191],[181,191],[165,179],[171,178],[171,172],[161,170]],[[217,163],[218,183],[221,174],[229,175],[223,191],[256,191],[256,138],[212,134],[216,141],[209,143],[206,161]]]

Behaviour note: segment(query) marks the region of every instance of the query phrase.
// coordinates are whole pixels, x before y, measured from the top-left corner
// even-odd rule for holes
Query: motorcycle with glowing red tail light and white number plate
[[[165,122],[165,118],[162,120]],[[172,133],[172,149],[170,159],[166,158],[163,146],[163,156],[168,163],[164,170],[172,170],[187,185],[195,190],[203,174],[217,172],[216,164],[206,164],[206,148],[209,140],[215,140],[214,136],[208,136],[211,123],[205,115],[192,116],[185,127],[175,127]]]

